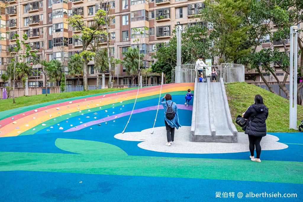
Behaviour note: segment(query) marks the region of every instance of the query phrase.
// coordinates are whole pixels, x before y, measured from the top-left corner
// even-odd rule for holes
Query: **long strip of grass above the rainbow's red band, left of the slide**
[[[54,94],[41,94],[41,95],[32,95],[32,96],[22,96],[15,98],[15,104],[13,104],[13,99],[5,99],[0,100],[0,111],[6,111],[9,109],[15,109],[19,107],[25,107],[33,104],[40,104],[55,100],[61,100],[65,98],[73,98],[78,96],[85,96],[85,95],[93,95],[93,94],[100,94],[100,93],[107,93],[112,91],[120,91],[126,90],[128,88],[105,88],[100,90],[90,90],[90,91],[75,91],[75,92],[67,92],[67,93],[54,93]]]

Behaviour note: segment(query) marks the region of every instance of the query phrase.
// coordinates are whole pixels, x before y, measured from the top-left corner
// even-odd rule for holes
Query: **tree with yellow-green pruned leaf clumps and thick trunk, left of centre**
[[[92,25],[88,26],[87,22],[83,21],[83,18],[81,15],[73,15],[72,17],[68,18],[69,24],[78,29],[81,30],[82,35],[73,35],[74,39],[82,41],[82,52],[80,53],[80,56],[83,57],[83,88],[85,91],[88,91],[88,85],[87,85],[87,64],[88,61],[91,61],[93,56],[95,54],[91,51],[87,51],[88,46],[91,44],[91,42],[99,37],[101,38],[102,35],[106,35],[106,31],[103,31],[102,25],[105,24],[104,19],[105,11],[98,10],[96,12],[95,17],[93,17]]]

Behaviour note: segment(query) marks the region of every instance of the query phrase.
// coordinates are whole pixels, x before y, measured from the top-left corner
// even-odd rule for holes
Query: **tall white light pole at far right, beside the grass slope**
[[[289,128],[297,129],[298,26],[290,27],[289,68]]]

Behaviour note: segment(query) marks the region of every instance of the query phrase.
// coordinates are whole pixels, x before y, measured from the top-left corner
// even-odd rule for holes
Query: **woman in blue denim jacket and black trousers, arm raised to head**
[[[166,100],[167,104],[171,106],[172,103],[172,108],[175,112],[175,117],[173,119],[167,119],[166,118],[166,109],[167,109],[167,104],[164,101]],[[167,143],[165,144],[166,146],[171,146],[171,144],[175,144],[174,142],[174,137],[175,137],[175,128],[181,127],[179,124],[179,116],[178,116],[178,108],[177,104],[173,101],[171,101],[171,94],[166,94],[163,98],[161,98],[161,104],[163,105],[164,108],[164,122],[165,122],[165,127],[166,127],[166,136],[167,136]]]

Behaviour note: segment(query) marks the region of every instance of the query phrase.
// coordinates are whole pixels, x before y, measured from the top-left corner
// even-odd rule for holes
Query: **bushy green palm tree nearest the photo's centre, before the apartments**
[[[125,58],[122,61],[122,66],[126,68],[126,74],[133,77],[133,81],[139,73],[139,57],[144,58],[144,54],[141,53],[139,56],[139,52],[139,48],[132,47],[129,47],[126,52],[122,52],[122,54],[125,55]],[[143,67],[142,60],[140,60],[140,68],[141,67]]]

